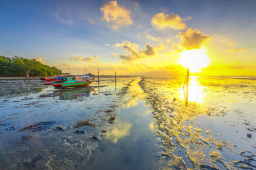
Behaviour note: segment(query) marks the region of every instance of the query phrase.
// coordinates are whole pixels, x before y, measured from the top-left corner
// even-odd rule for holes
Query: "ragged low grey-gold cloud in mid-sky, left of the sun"
[[[134,48],[134,44],[131,45],[129,41],[122,43],[122,48],[129,54],[118,54],[118,57],[125,61],[139,60],[148,57],[154,57],[157,55],[157,50],[162,50],[164,45],[158,45],[156,48],[150,44],[145,45],[145,49]],[[136,46],[137,47],[137,46]]]

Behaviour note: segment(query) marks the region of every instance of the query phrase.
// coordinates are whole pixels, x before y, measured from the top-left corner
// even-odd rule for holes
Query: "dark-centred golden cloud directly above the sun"
[[[179,32],[181,45],[187,50],[199,49],[206,41],[211,39],[211,36],[207,34],[202,34],[198,29],[189,28],[185,32]]]

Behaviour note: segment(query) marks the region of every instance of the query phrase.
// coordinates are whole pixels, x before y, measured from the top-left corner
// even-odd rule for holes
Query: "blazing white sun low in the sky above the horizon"
[[[198,72],[209,65],[209,57],[205,53],[205,48],[199,50],[185,50],[180,53],[179,63],[183,67],[189,67],[191,72]]]

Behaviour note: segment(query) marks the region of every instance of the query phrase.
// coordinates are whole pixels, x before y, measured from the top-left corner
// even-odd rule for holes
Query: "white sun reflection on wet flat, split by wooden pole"
[[[189,79],[188,101],[201,104],[204,101],[204,97],[204,87],[200,86],[196,80],[196,77],[193,76],[191,79]],[[180,88],[180,98],[184,99],[184,92],[182,87]]]

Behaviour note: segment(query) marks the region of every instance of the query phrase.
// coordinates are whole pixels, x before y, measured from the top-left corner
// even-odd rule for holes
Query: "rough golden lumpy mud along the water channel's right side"
[[[205,155],[203,152],[204,148],[212,148],[212,145],[215,145],[218,150],[223,147],[231,150],[230,143],[214,138],[211,131],[202,132],[202,129],[195,127],[195,125],[183,124],[185,120],[205,113],[210,115],[218,113],[217,116],[223,117],[227,114],[225,108],[222,110],[215,110],[214,108],[202,110],[196,103],[189,103],[188,107],[184,107],[179,99],[173,100],[173,98],[166,97],[164,92],[161,93],[159,90],[161,83],[158,83],[156,88],[152,82],[154,81],[141,78],[139,85],[147,94],[147,100],[152,108],[154,132],[161,139],[161,148],[164,149],[164,153],[160,155],[163,165],[169,165],[168,167],[171,169],[187,169],[189,164],[192,164],[195,169],[219,169],[215,162],[220,162],[225,167],[231,167],[230,164],[221,159],[220,155],[219,157],[218,154],[214,155],[214,153]],[[175,142],[179,147],[175,145]],[[182,157],[175,155],[175,151],[178,149],[186,152],[186,157],[190,162],[185,163]],[[211,166],[207,164],[211,164]]]

